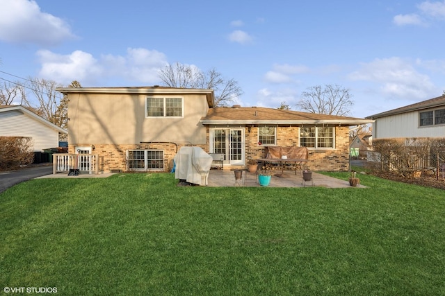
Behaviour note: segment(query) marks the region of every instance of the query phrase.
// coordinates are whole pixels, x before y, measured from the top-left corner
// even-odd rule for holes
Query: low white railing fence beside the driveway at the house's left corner
[[[97,154],[53,154],[53,174],[77,169],[80,173],[104,171],[104,157]]]

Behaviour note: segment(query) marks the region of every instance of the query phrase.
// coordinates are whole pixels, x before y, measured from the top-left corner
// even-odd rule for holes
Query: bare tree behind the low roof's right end
[[[309,87],[302,93],[302,97],[297,107],[311,113],[346,116],[354,105],[350,89],[339,85]]]

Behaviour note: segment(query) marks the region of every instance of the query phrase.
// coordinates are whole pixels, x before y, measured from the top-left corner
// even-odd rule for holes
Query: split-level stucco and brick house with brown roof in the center
[[[68,103],[70,153],[112,169],[168,171],[181,146],[223,153],[224,168],[261,158],[266,146],[305,146],[313,170],[348,170],[348,130],[369,119],[264,107],[215,107],[212,89],[59,88]]]

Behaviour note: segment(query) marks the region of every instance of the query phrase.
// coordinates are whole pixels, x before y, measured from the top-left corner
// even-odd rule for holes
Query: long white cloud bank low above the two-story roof
[[[150,85],[159,82],[159,69],[167,64],[163,53],[148,49],[129,48],[125,56],[102,55],[99,59],[83,51],[60,55],[45,50],[38,51],[38,56],[42,63],[39,76],[64,85],[77,80],[83,86],[96,86],[114,78]]]

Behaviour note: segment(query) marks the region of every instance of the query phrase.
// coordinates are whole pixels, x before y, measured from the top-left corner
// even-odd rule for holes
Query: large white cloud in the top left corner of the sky
[[[65,21],[40,11],[35,1],[1,0],[0,40],[54,45],[72,37]]]

